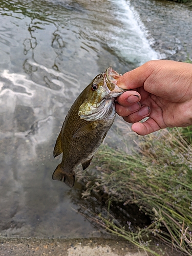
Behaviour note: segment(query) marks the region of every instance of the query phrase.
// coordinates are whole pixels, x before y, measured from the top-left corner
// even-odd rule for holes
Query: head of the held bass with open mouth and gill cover
[[[121,75],[111,67],[97,75],[89,86],[84,89],[84,101],[80,105],[81,119],[88,121],[102,120],[108,117],[115,108],[115,98],[120,96],[125,89],[115,83]]]

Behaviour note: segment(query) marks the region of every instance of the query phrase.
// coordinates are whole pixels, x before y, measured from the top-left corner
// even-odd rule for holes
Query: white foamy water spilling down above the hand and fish
[[[116,16],[122,27],[112,30],[108,44],[114,48],[119,57],[127,61],[136,62],[138,65],[152,59],[158,59],[150,42],[145,37],[144,25],[133,11],[129,2],[124,0],[110,0],[117,6]],[[141,26],[142,25],[142,26]]]

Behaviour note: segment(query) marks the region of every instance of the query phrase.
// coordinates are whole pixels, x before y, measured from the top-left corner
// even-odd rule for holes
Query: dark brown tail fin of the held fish
[[[52,179],[63,181],[69,187],[73,187],[75,184],[75,172],[73,172],[72,174],[66,173],[59,163],[52,175]]]

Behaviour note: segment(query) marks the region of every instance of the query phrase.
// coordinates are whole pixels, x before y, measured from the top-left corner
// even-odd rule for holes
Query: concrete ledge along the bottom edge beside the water
[[[0,238],[1,256],[150,256],[127,241],[115,239],[37,239]],[[181,256],[166,245],[159,244],[157,251],[166,256]]]

